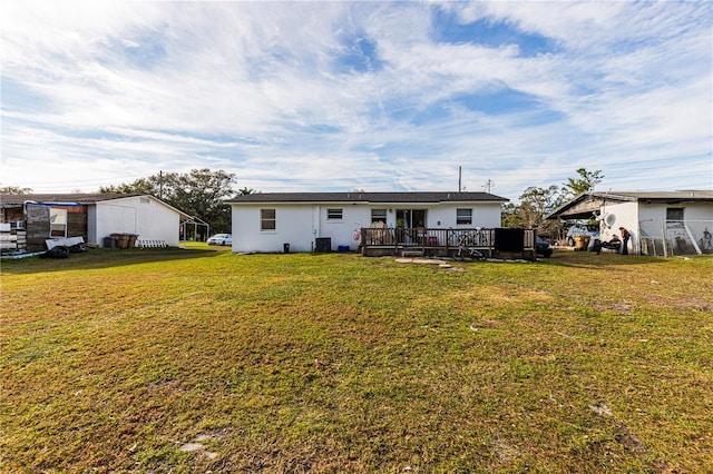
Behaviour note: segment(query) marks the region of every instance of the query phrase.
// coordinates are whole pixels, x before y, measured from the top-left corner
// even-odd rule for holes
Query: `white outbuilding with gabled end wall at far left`
[[[50,238],[79,237],[105,245],[113,234],[138,241],[178,246],[182,220],[191,216],[149,195],[0,195],[0,220],[21,234],[29,251],[46,249]]]

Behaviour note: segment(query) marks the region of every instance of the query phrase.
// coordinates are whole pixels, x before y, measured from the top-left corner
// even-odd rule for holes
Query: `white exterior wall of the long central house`
[[[456,209],[472,208],[472,225],[457,226]],[[260,230],[261,209],[275,209],[275,230]],[[328,219],[328,209],[342,209],[342,219]],[[499,227],[500,204],[244,204],[232,206],[233,251],[280,253],[290,244],[290,251],[312,251],[315,238],[330,237],[332,250],[349,246],[356,250],[354,234],[371,224],[372,209],[387,209],[387,226],[394,227],[398,209],[426,209],[429,228]]]

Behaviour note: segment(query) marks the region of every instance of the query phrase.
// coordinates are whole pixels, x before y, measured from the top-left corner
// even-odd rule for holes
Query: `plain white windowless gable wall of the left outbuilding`
[[[164,240],[170,247],[178,246],[180,215],[150,197],[97,203],[95,219],[99,245],[111,234],[137,234],[141,240]]]

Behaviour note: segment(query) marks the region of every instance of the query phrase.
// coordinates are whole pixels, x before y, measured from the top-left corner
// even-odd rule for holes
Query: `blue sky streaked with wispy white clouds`
[[[0,186],[713,188],[713,7],[2,2]]]

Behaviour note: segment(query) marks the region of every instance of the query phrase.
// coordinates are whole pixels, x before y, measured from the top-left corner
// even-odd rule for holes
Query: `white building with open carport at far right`
[[[645,255],[713,253],[713,190],[588,191],[547,219],[597,219],[600,238],[632,234],[629,251]]]

